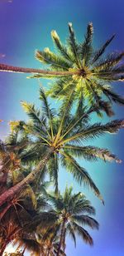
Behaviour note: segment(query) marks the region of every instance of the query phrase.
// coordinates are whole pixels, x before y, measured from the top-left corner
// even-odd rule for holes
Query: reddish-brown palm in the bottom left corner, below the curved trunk
[[[28,201],[28,204],[27,204]],[[35,211],[37,206],[36,195],[31,186],[26,186],[18,196],[2,205],[0,211],[0,255],[3,254],[7,245],[17,236],[23,234],[24,227],[31,220],[29,209]]]

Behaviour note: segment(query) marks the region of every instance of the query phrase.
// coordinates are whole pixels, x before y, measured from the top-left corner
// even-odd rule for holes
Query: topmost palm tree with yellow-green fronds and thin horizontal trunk
[[[1,71],[31,72],[32,77],[56,77],[57,80],[49,91],[50,96],[68,96],[73,90],[78,100],[85,98],[93,105],[102,106],[108,116],[112,116],[111,103],[124,104],[124,98],[112,91],[112,81],[124,80],[124,52],[112,52],[103,57],[107,46],[112,42],[110,37],[98,51],[93,50],[93,24],[89,23],[84,41],[76,40],[72,23],[69,23],[69,38],[67,46],[60,41],[57,32],[52,31],[51,37],[58,50],[58,54],[36,51],[36,59],[50,67],[47,70],[30,69],[0,64]],[[36,73],[36,74],[35,74]],[[106,98],[107,100],[104,100]]]

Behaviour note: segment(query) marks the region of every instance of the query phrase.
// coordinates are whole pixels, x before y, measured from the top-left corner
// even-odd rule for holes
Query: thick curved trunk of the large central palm
[[[17,183],[17,185],[14,185],[9,190],[6,190],[0,196],[0,206],[5,202],[9,201],[10,199],[12,199],[15,194],[19,193],[21,189],[24,188],[25,185],[31,183],[33,180],[36,179],[36,175],[44,168],[47,160],[50,159],[50,155],[53,151],[54,151],[54,148],[50,147],[50,149],[47,151],[43,159],[40,161],[39,165],[37,165],[36,168],[32,170],[29,175],[26,176],[26,178],[21,180],[19,183]]]

